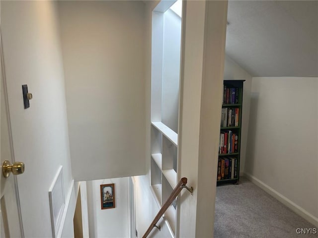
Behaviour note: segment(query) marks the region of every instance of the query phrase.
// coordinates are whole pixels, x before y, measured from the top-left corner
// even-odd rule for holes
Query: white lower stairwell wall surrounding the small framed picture
[[[101,209],[100,184],[115,183],[115,208]],[[86,182],[89,237],[128,238],[128,178]]]

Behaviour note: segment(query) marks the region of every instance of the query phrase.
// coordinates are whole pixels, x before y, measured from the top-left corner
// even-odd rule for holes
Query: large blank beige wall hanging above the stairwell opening
[[[75,180],[145,174],[144,3],[58,4]]]

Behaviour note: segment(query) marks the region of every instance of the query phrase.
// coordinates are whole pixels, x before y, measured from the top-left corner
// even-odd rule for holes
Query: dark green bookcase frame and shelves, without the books
[[[224,80],[224,82],[223,82],[224,86],[226,86],[226,88],[238,88],[238,90],[235,92],[235,96],[237,96],[237,99],[238,99],[238,100],[236,100],[236,102],[234,102],[234,99],[235,99],[235,97],[234,97],[234,99],[232,100],[233,103],[227,103],[226,97],[224,97],[224,94],[223,94],[222,109],[230,110],[230,109],[238,108],[239,109],[239,116],[238,116],[239,123],[238,123],[238,126],[221,126],[220,133],[221,133],[221,131],[224,133],[224,132],[231,130],[232,133],[238,135],[238,149],[237,149],[238,152],[219,154],[219,160],[227,159],[227,157],[237,160],[237,172],[236,172],[235,177],[234,176],[232,177],[232,175],[229,175],[228,177],[224,176],[223,179],[217,178],[218,179],[217,185],[221,185],[224,183],[239,184],[240,139],[241,139],[241,119],[242,119],[243,82],[244,81],[245,80]],[[223,93],[226,93],[226,92],[224,92],[224,88],[223,88]],[[228,108],[228,109],[226,109],[226,108]],[[232,110],[232,112],[233,112],[233,110]],[[228,116],[228,115],[226,115],[226,116]],[[232,146],[234,146],[233,143],[232,143]],[[218,162],[218,165],[219,165],[219,162]],[[219,177],[219,168],[218,168],[218,177]]]

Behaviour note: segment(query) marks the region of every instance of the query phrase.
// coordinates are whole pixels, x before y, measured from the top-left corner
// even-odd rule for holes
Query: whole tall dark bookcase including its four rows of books
[[[217,185],[239,182],[244,81],[224,80]]]

